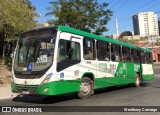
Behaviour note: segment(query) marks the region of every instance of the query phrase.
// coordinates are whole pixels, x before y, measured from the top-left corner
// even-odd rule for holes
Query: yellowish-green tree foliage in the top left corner
[[[29,0],[0,0],[0,39],[15,39],[35,27],[34,11]]]

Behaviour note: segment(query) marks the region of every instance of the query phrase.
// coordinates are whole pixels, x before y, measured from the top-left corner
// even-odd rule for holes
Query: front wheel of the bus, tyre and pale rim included
[[[84,77],[80,84],[80,91],[78,92],[78,97],[81,99],[88,98],[92,95],[93,90],[93,81],[88,77]]]

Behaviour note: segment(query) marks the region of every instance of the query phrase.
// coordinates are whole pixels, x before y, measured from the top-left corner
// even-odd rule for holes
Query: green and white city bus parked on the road
[[[22,33],[13,60],[14,93],[88,98],[98,88],[154,78],[151,50],[67,26]]]

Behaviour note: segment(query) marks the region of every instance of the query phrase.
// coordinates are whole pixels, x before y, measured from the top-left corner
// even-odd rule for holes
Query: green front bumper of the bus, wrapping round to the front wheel
[[[20,85],[11,84],[14,93],[34,95],[59,95],[70,92],[77,92],[80,88],[80,80],[54,81],[43,85]]]

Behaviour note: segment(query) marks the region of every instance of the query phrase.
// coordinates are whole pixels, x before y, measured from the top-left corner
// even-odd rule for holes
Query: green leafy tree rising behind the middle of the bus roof
[[[50,2],[52,15],[49,23],[54,25],[67,25],[83,31],[102,34],[107,32],[107,22],[112,12],[107,9],[108,3],[98,3],[97,0],[57,0]]]

